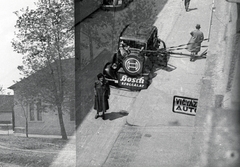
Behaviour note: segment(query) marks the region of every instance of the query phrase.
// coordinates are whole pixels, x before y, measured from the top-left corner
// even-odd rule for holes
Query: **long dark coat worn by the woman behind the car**
[[[98,112],[109,109],[108,99],[110,95],[110,87],[107,81],[101,83],[99,80],[95,82],[95,103],[94,109]]]

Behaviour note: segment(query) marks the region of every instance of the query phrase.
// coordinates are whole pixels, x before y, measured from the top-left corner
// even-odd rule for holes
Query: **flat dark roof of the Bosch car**
[[[134,40],[146,43],[150,38],[152,32],[157,29],[155,26],[143,26],[140,25],[136,27],[134,25],[129,25],[122,33],[120,39]]]

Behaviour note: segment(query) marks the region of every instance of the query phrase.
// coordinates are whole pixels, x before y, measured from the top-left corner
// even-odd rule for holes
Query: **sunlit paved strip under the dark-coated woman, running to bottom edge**
[[[137,95],[138,92],[111,89],[110,109],[106,112],[105,120],[101,117],[95,119],[95,110],[86,116],[77,130],[77,166],[104,164]]]

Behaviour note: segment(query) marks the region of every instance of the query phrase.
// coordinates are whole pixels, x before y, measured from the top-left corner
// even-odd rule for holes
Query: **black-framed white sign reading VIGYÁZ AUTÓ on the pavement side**
[[[175,113],[195,116],[197,112],[197,104],[198,99],[183,96],[174,96],[172,111]]]

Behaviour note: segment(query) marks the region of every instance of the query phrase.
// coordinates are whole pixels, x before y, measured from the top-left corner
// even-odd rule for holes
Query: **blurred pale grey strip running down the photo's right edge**
[[[190,164],[196,167],[240,164],[239,157],[235,157],[239,155],[236,4],[215,1],[215,7],[200,112],[195,122],[195,127],[202,127],[203,131],[195,130],[190,148]],[[238,102],[235,104],[238,107],[234,102]],[[231,153],[233,157],[229,156]]]

